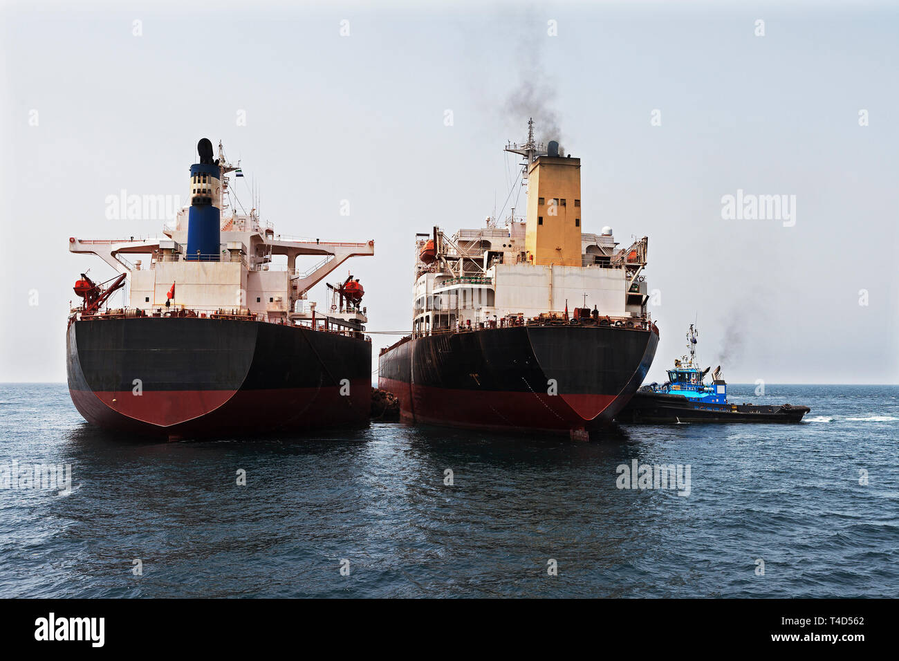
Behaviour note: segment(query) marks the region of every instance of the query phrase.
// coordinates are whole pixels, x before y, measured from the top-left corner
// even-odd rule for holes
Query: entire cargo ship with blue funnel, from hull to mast
[[[228,174],[243,172],[221,144],[218,158],[205,138],[198,151],[191,205],[162,239],[69,238],[71,252],[120,273],[76,283],[84,304],[67,334],[76,407],[94,424],[170,437],[363,424],[371,349],[361,283],[329,285],[324,309],[307,296],[350,257],[374,255],[374,241],[276,234],[256,208],[236,210]],[[321,260],[302,271],[301,255]],[[126,305],[109,308],[126,287]]]

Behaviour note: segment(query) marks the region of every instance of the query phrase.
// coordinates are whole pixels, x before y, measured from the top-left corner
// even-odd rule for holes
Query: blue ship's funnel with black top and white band
[[[200,163],[191,165],[191,210],[187,225],[187,260],[218,262],[221,219],[221,168],[212,160],[212,143],[197,144]]]

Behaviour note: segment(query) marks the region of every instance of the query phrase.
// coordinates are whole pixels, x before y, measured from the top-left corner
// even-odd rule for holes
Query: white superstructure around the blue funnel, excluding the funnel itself
[[[239,168],[226,163],[220,143],[218,152],[223,173],[239,172]],[[188,207],[178,212],[174,226],[163,229],[164,238],[136,241],[72,237],[68,249],[72,253],[98,255],[117,272],[126,274],[131,310],[147,315],[167,311],[167,293],[174,285],[170,306],[174,304],[175,308],[198,315],[227,310],[272,322],[316,318],[315,304],[306,300],[308,290],[350,257],[375,253],[374,241],[282,237],[271,223],[260,220],[256,209],[238,213],[228,183],[229,178],[223,174],[221,192],[218,188],[210,191],[215,206],[221,209],[218,262],[188,261]],[[191,188],[191,197],[195,194],[197,189]],[[286,255],[286,264],[275,264],[272,258],[276,255]],[[296,264],[300,255],[319,255],[322,259],[301,270]],[[341,306],[328,301],[324,309],[319,308],[317,318],[354,328],[367,321],[364,308],[343,305],[343,298],[340,300]]]

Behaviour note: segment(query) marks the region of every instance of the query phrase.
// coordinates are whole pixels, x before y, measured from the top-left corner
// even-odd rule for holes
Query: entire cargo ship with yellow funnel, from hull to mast
[[[539,145],[532,123],[506,151],[523,159],[526,217],[415,237],[412,335],[381,354],[380,387],[410,420],[583,435],[653,359],[648,239],[583,232],[581,161]]]

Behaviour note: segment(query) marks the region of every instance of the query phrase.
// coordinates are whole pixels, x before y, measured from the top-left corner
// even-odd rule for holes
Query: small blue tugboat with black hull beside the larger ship
[[[696,362],[698,331],[690,324],[687,333],[689,355],[674,361],[668,380],[638,389],[616,419],[622,423],[797,423],[810,409],[808,406],[757,406],[731,404],[727,401],[727,383],[721,368],[712,372],[711,383],[705,382],[711,368],[702,369]]]

